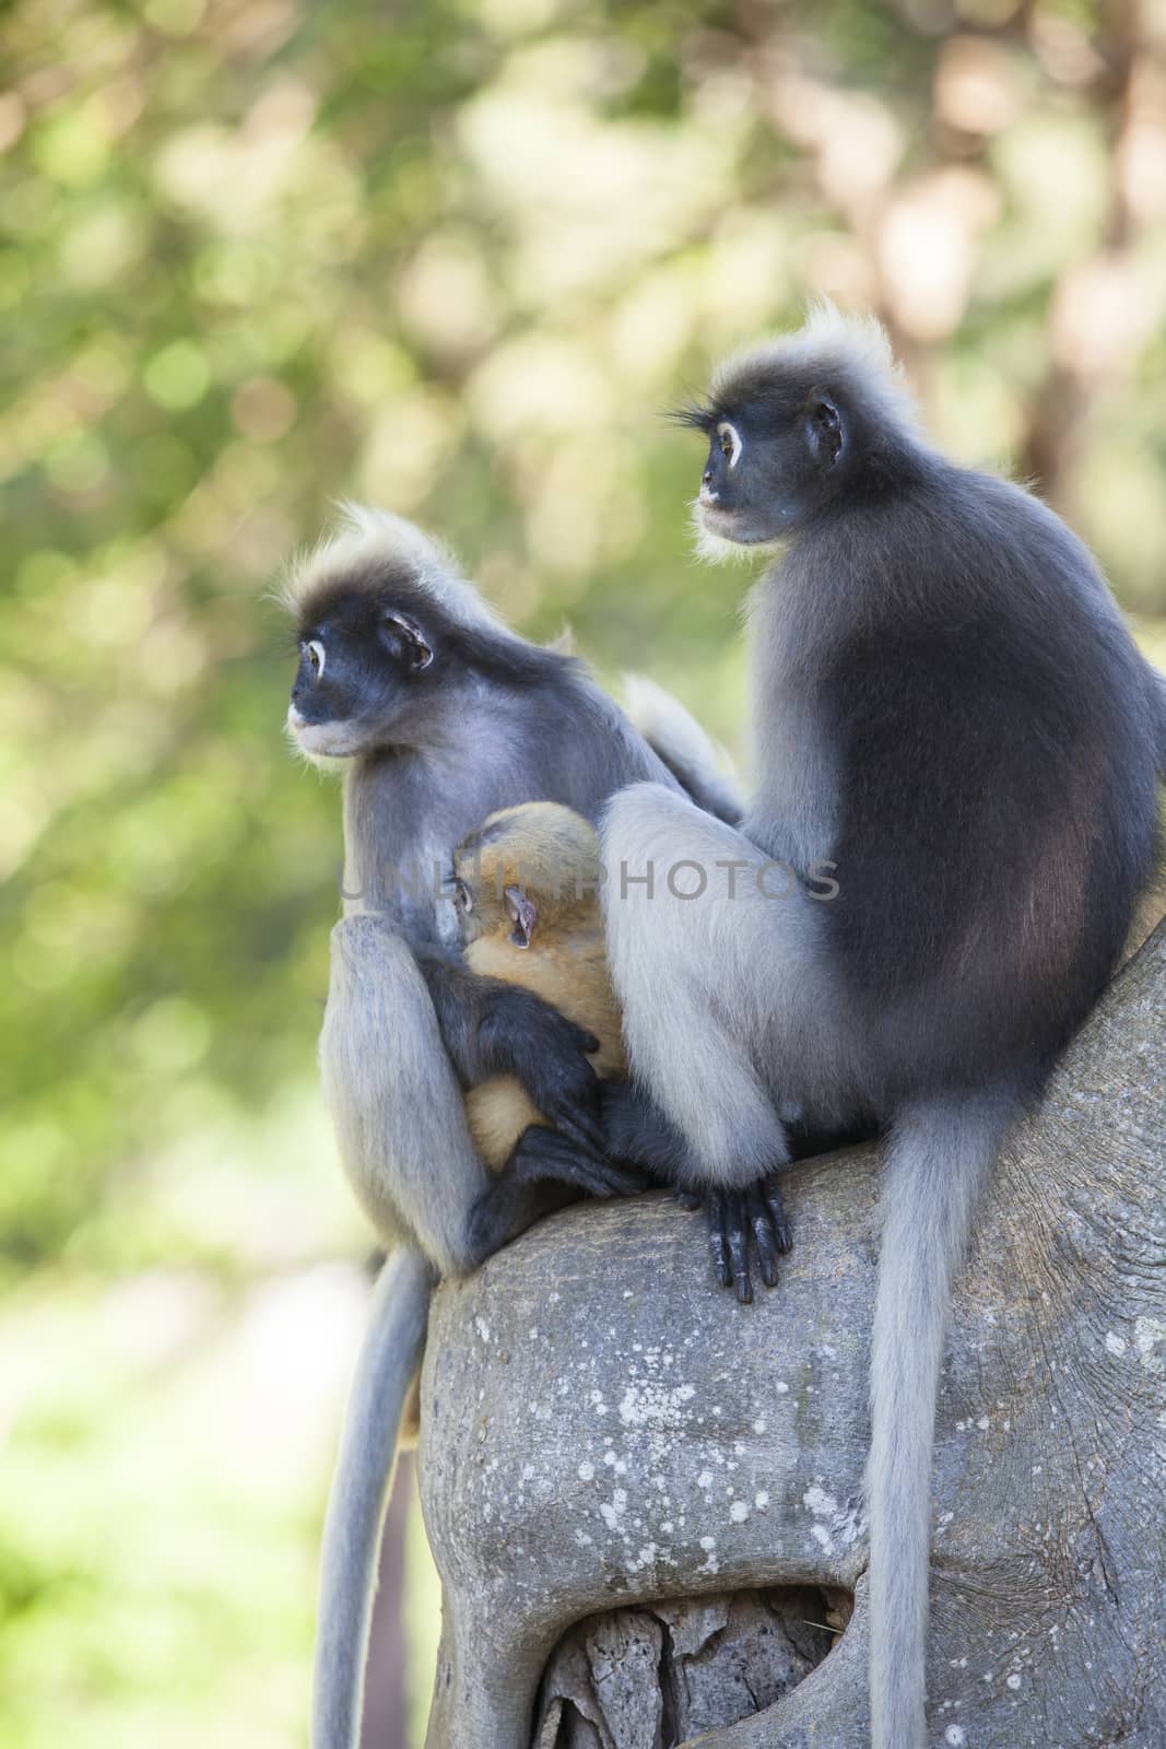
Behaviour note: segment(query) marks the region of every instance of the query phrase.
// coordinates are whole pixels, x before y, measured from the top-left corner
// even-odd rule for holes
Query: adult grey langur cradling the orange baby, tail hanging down
[[[323,1534],[315,1749],[355,1749],[379,1527],[402,1406],[425,1343],[428,1298],[505,1244],[565,1174],[594,1193],[629,1186],[596,1154],[598,1041],[531,990],[474,976],[458,948],[455,845],[500,808],[558,801],[589,820],[624,784],[680,796],[587,670],[509,631],[451,556],[400,518],[351,509],[285,591],[299,670],[288,733],[313,761],[343,761],[344,916],[332,932],[320,1039],[343,1165],[392,1256],[357,1362]],[[720,785],[691,719],[673,768]],[[704,785],[704,787],[708,787]],[[710,791],[711,792],[711,791]],[[514,1074],[558,1125],[528,1132],[526,1175],[489,1177],[463,1090]],[[545,1139],[540,1144],[540,1137]],[[642,1181],[640,1181],[642,1182]],[[561,1198],[559,1198],[561,1200]]]

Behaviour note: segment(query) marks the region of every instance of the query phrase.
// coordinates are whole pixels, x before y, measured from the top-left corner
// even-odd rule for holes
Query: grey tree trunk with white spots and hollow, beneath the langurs
[[[1009,1146],[937,1422],[932,1740],[1166,1744],[1166,925]],[[773,1293],[580,1207],[435,1298],[428,1749],[865,1749],[878,1151],[790,1174]]]

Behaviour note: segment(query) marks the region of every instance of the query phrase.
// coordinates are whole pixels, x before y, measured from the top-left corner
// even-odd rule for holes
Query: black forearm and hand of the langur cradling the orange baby
[[[600,1041],[531,990],[479,978],[441,948],[418,948],[416,960],[462,1086],[516,1076],[549,1123],[601,1153],[600,1084],[584,1055]]]

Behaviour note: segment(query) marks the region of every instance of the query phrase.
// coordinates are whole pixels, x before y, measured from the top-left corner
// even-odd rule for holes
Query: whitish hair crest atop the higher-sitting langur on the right
[[[822,387],[834,387],[855,397],[879,423],[890,423],[904,436],[918,434],[918,408],[883,324],[872,315],[843,313],[825,297],[811,303],[806,322],[795,332],[745,346],[725,359],[713,376],[708,401],[682,411],[680,418],[708,430],[718,416],[774,378],[811,378]]]

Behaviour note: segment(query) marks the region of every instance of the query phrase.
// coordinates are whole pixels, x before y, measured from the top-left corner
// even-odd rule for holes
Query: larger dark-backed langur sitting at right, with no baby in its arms
[[[925,1749],[951,1280],[1002,1139],[1154,876],[1166,693],[1065,523],[928,444],[878,324],[820,311],[682,418],[710,444],[703,544],[783,547],[750,602],[757,792],[739,831],[661,785],[608,805],[612,974],[722,1280],[748,1284],[785,1112],[886,1132],[872,1742]],[[678,859],[727,890],[680,899]],[[834,864],[837,895],[769,897],[778,861]]]

